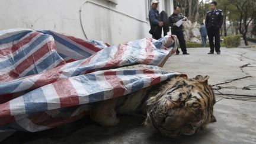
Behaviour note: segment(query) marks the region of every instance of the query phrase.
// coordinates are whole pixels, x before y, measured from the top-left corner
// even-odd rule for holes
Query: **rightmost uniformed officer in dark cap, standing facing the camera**
[[[210,52],[208,54],[213,54],[215,50],[217,55],[220,55],[220,28],[223,23],[222,10],[217,9],[217,2],[215,1],[210,3],[210,8],[212,10],[207,12],[205,21],[210,43]],[[215,39],[214,43],[213,39]]]

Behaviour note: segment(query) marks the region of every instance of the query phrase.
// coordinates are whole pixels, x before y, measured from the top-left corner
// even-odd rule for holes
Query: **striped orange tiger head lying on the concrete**
[[[151,92],[147,101],[145,124],[160,130],[162,135],[177,137],[193,135],[206,124],[216,122],[216,103],[209,76],[187,79],[172,78]]]

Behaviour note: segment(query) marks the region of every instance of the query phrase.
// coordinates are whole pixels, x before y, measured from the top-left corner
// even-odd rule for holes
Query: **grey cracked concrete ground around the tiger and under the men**
[[[211,85],[222,82],[223,87],[246,87],[256,85],[256,49],[222,48],[221,55],[207,55],[209,48],[188,49],[190,55],[172,56],[164,68],[187,73],[188,77],[209,75]],[[246,76],[251,76],[244,78]],[[238,81],[231,79],[243,78]],[[256,95],[251,90],[222,88],[227,94]],[[217,91],[216,91],[217,93]],[[163,137],[154,129],[142,126],[142,116],[120,116],[115,127],[84,124],[81,120],[73,125],[41,133],[20,133],[5,140],[18,143],[256,143],[255,102],[232,100],[217,96],[215,104],[216,123],[209,124],[194,136],[171,139]],[[226,96],[224,96],[226,97]],[[230,98],[230,97],[229,97]],[[238,97],[236,97],[238,98]],[[245,100],[244,97],[242,97]],[[253,97],[252,97],[253,98]],[[251,98],[251,99],[252,99]],[[67,131],[67,132],[63,132]]]

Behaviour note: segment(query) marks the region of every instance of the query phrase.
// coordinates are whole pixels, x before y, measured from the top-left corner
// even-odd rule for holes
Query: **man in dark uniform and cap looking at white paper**
[[[187,53],[187,47],[185,45],[185,39],[183,35],[183,25],[181,24],[178,27],[178,25],[175,24],[180,20],[186,21],[187,19],[180,14],[180,7],[175,6],[174,13],[169,17],[169,25],[171,26],[171,33],[177,36],[183,55],[189,55],[189,53]],[[179,54],[180,54],[180,51],[177,49],[176,55],[179,55]]]

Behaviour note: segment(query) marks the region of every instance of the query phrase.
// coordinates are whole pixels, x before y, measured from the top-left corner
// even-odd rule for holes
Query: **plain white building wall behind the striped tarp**
[[[151,37],[146,1],[117,0],[118,5],[91,1],[115,11],[85,0],[0,0],[0,30],[18,27],[54,30],[85,39],[79,20],[82,5],[82,25],[88,39],[118,44]],[[162,4],[159,7],[160,11],[164,8]]]

